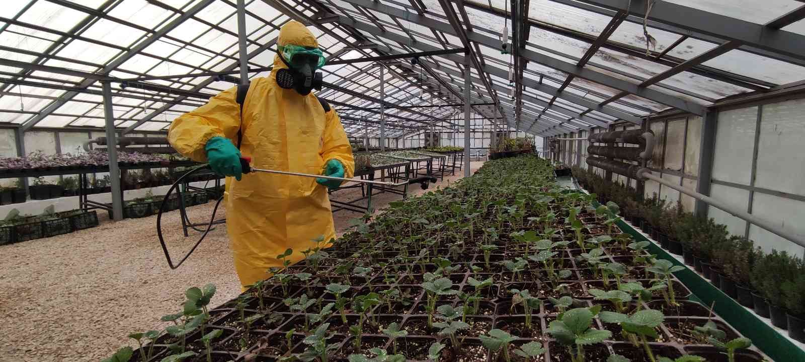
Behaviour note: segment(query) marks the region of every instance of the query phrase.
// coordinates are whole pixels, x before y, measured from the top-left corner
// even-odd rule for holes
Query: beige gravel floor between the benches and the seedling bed
[[[473,172],[483,162],[472,163]],[[447,177],[431,188],[456,181]],[[411,194],[425,192],[419,186]],[[349,200],[360,189],[336,193]],[[376,209],[400,196],[374,197]],[[195,222],[208,220],[213,202],[188,210]],[[223,207],[218,217],[225,217]],[[361,214],[333,215],[336,231]],[[101,225],[85,231],[0,247],[0,361],[92,361],[113,353],[134,331],[163,327],[159,317],[181,310],[184,290],[217,285],[217,306],[240,293],[225,228],[211,231],[177,270],[167,267],[156,238],[155,216]],[[192,246],[183,238],[179,213],[163,215],[171,257]],[[175,256],[174,254],[175,253]],[[134,344],[132,344],[134,346]]]

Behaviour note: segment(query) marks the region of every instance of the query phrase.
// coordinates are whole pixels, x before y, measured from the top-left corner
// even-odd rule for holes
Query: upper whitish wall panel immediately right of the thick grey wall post
[[[757,119],[757,106],[718,114],[712,178],[749,185]]]

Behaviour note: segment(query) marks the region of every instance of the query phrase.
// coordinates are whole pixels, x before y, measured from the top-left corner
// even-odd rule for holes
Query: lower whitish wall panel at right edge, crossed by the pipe
[[[756,192],[752,202],[752,214],[766,219],[777,227],[794,231],[800,238],[805,238],[805,223],[803,223],[805,202]],[[766,252],[774,248],[780,252],[786,251],[803,257],[803,247],[760,227],[749,226],[749,239],[753,239],[755,244]]]

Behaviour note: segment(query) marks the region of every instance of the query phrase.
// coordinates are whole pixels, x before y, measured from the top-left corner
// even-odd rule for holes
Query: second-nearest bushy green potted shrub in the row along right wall
[[[754,298],[755,312],[761,316],[769,316],[774,327],[786,329],[786,303],[782,294],[782,285],[787,281],[795,281],[802,277],[796,273],[801,268],[802,261],[789,256],[787,252],[772,250],[758,259],[752,270],[752,286],[758,290],[760,298]],[[763,306],[768,310],[762,313]],[[766,315],[763,315],[766,314]]]

